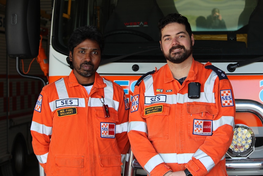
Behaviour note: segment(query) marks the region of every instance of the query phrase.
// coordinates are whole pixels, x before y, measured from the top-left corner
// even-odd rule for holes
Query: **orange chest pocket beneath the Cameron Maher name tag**
[[[141,116],[146,119],[149,140],[168,139],[169,110],[170,105],[164,103],[144,108]]]

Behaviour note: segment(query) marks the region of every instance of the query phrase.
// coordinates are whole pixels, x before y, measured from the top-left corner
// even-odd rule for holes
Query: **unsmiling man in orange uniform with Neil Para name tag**
[[[46,85],[34,109],[34,153],[47,176],[121,176],[129,104],[121,86],[96,72],[103,36],[84,26],[68,43],[70,75]]]

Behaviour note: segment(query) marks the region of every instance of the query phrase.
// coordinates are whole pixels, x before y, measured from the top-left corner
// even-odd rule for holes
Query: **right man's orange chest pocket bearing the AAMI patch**
[[[190,139],[205,139],[213,133],[213,118],[217,115],[215,104],[187,103],[188,137]]]

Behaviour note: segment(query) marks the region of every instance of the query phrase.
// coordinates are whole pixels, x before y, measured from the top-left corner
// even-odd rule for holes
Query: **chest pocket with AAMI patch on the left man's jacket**
[[[96,117],[97,137],[100,140],[115,140],[116,123],[119,122],[118,112],[109,108],[110,117],[105,117],[103,107],[94,108]]]

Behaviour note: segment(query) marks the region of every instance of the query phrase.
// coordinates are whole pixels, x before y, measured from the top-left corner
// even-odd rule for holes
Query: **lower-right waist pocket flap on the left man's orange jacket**
[[[99,156],[102,167],[121,166],[121,155],[101,155]]]

